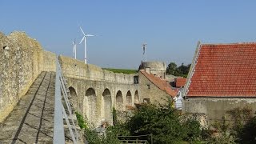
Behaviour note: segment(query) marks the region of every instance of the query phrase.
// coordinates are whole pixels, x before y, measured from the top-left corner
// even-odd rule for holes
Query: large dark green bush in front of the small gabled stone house
[[[127,122],[132,135],[152,134],[154,143],[175,143],[200,138],[199,123],[182,123],[170,106],[142,105]],[[150,139],[148,139],[150,142]]]

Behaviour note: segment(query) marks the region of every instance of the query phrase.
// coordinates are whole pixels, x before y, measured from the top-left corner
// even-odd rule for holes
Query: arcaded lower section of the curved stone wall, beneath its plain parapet
[[[70,101],[75,110],[88,118],[94,126],[100,125],[102,119],[112,124],[112,109],[125,111],[126,106],[134,106],[134,95],[138,86],[133,84],[91,81],[81,78],[66,77],[70,90]],[[117,96],[121,93],[121,108],[117,107]],[[126,102],[131,94],[131,103]]]

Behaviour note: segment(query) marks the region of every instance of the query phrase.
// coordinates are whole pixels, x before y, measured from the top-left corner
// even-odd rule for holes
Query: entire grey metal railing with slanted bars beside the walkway
[[[61,66],[56,59],[56,79],[55,79],[55,104],[54,104],[54,143],[65,143],[63,118],[70,130],[70,135],[74,144],[78,143],[78,131],[74,124],[73,112],[69,102],[69,90],[66,88],[66,81],[62,74]],[[63,105],[63,103],[65,105]],[[66,110],[68,114],[66,114]],[[71,124],[70,124],[70,120]]]

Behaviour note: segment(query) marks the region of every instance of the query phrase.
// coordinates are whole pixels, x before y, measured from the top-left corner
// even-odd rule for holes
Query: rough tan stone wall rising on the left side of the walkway
[[[15,31],[8,36],[0,33],[0,122],[44,70],[46,55],[42,46],[24,32]]]

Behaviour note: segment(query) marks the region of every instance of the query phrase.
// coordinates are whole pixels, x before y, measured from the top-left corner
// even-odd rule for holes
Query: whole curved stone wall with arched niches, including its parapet
[[[134,106],[134,102],[139,102],[138,84],[134,84],[137,74],[117,74],[64,56],[59,57],[59,62],[74,109],[94,127],[100,125],[103,119],[113,123],[113,107],[125,111],[126,106]]]

